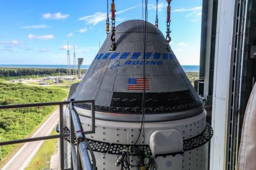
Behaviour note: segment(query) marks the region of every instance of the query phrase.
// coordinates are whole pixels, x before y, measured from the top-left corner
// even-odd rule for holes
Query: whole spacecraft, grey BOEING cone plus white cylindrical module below
[[[70,91],[69,99],[95,100],[95,133],[86,137],[94,151],[97,169],[121,169],[118,161],[122,161],[124,150],[130,153],[129,168],[137,169],[140,159],[134,148],[154,159],[157,169],[207,169],[207,142],[213,131],[206,123],[203,102],[171,48],[166,46],[161,31],[149,22],[143,54],[144,28],[142,20],[118,25],[115,51],[109,51],[108,36],[82,82]],[[89,131],[90,104],[77,104],[75,109],[84,131]],[[69,131],[68,109],[66,126]],[[66,166],[70,167],[68,139],[66,144]]]

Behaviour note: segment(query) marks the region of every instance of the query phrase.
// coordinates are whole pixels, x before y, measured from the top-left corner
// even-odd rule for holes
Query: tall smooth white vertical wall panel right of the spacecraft
[[[230,58],[235,0],[219,0],[215,45],[210,169],[225,169]]]

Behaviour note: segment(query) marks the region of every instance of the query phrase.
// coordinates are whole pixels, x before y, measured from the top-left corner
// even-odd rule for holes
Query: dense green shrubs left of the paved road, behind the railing
[[[68,92],[58,88],[27,86],[21,83],[0,83],[0,105],[62,101]],[[0,110],[0,137],[2,141],[29,136],[55,107]],[[2,147],[2,157],[15,145]],[[0,162],[1,163],[1,162]]]

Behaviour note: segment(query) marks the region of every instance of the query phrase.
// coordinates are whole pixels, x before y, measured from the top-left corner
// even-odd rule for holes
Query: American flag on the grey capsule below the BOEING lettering
[[[143,78],[128,78],[128,90],[143,90]],[[145,89],[149,90],[149,79],[145,78]]]

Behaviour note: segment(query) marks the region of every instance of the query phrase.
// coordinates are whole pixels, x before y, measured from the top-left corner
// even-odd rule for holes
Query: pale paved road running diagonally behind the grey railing
[[[49,119],[36,131],[32,137],[50,135],[52,129],[59,121],[59,108]],[[23,170],[30,163],[44,141],[28,142],[15,153],[15,155],[4,165],[2,170]]]

